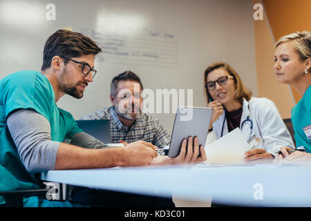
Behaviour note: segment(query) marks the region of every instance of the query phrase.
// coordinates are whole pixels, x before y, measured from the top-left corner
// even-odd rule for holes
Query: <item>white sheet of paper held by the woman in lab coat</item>
[[[244,164],[245,152],[249,151],[243,133],[239,128],[227,133],[220,139],[207,144],[205,152],[207,154],[207,165],[241,165]]]

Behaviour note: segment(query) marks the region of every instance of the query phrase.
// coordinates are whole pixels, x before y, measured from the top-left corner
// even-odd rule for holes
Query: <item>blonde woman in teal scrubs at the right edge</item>
[[[301,95],[292,108],[296,147],[289,155],[288,147],[281,148],[282,164],[311,165],[311,32],[294,32],[279,39],[275,46],[274,70],[279,83],[290,84]],[[285,157],[284,160],[283,157]]]

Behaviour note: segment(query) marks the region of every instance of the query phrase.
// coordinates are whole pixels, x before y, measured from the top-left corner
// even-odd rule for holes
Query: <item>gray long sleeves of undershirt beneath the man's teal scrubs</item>
[[[28,171],[42,172],[55,169],[60,142],[51,140],[50,123],[46,117],[30,109],[21,109],[8,116],[7,124],[21,162]],[[84,148],[107,147],[84,132],[73,135],[70,144]]]

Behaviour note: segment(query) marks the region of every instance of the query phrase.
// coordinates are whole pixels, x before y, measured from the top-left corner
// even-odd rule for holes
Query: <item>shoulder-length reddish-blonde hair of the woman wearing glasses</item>
[[[218,69],[218,68],[225,68],[227,70],[227,73],[234,77],[234,83],[236,86],[236,92],[234,93],[234,99],[237,99],[239,102],[243,103],[243,98],[249,101],[252,97],[252,92],[247,90],[247,88],[244,86],[243,81],[240,76],[238,76],[238,73],[229,66],[229,64],[226,64],[224,62],[215,62],[214,64],[211,64],[208,66],[204,73],[204,82],[205,82],[205,94],[207,97],[207,102],[209,102],[209,99],[211,98],[211,95],[209,94],[209,90],[207,89],[207,75],[211,73],[212,70]]]

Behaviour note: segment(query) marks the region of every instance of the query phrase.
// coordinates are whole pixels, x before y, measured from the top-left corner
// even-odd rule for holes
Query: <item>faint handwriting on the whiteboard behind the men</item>
[[[103,52],[96,56],[98,61],[172,68],[178,66],[177,39],[170,33],[145,29],[135,34],[123,35],[85,28],[75,30],[91,37],[100,45]]]

